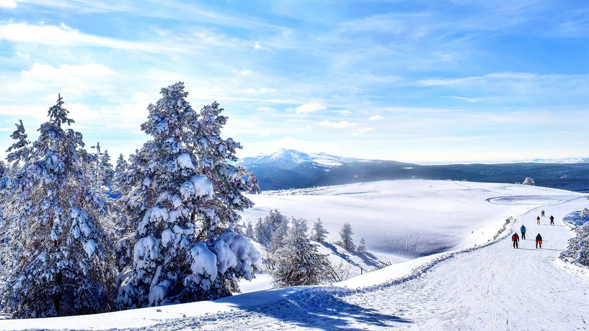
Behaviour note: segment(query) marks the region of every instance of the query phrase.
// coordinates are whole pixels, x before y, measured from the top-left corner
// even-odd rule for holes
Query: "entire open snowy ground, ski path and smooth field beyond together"
[[[331,232],[330,240],[336,239],[341,223],[350,221],[358,238],[366,237],[369,249],[378,247],[403,255],[421,250],[445,252],[393,264],[332,286],[264,290],[214,302],[91,316],[2,320],[0,329],[589,327],[588,272],[558,261],[572,235],[562,217],[587,207],[582,194],[452,181],[353,184],[316,194],[320,195],[256,196],[257,210],[246,217],[262,216],[266,207],[279,208],[286,215],[310,220],[321,217]],[[536,224],[535,217],[542,209],[547,216],[555,216],[555,226],[548,225],[548,217]],[[497,240],[488,241],[509,216],[515,221]],[[530,238],[542,234],[541,250],[534,248],[533,240],[522,240],[520,249],[511,248],[509,234],[522,223]],[[395,244],[395,240],[411,236],[418,236],[421,244]],[[472,248],[474,244],[476,248]]]

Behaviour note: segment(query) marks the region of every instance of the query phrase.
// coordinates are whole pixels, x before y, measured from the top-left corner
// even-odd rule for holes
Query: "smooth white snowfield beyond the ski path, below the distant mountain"
[[[307,195],[250,195],[256,205],[242,215],[252,224],[274,208],[286,216],[305,218],[309,225],[320,217],[329,231],[329,241],[339,240],[339,229],[349,222],[355,241],[365,237],[369,251],[413,258],[484,243],[509,216],[515,217],[535,204],[560,200],[552,196],[566,199],[575,194],[513,184],[377,181],[320,188]],[[518,203],[487,201],[513,196],[525,197]]]

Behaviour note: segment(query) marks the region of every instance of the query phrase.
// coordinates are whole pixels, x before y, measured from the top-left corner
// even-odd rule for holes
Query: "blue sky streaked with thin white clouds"
[[[218,101],[239,156],[587,157],[586,1],[0,0],[0,146],[57,93],[115,158],[161,87]],[[0,154],[2,156],[5,153]]]

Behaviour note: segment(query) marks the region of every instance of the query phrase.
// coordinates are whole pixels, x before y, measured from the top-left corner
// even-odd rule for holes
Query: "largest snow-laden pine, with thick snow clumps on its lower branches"
[[[119,309],[228,296],[261,266],[249,241],[230,230],[253,203],[241,193],[247,170],[229,163],[241,145],[220,137],[223,108],[194,111],[181,82],[161,95],[141,125],[152,140],[117,177],[133,247],[117,281]]]

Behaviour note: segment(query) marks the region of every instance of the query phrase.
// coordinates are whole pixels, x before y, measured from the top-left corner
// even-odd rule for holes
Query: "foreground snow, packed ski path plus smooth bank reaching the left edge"
[[[587,200],[512,196],[491,198],[489,203],[529,204],[533,209],[514,215],[504,239],[488,246],[404,263],[412,266],[405,266],[407,270],[433,264],[422,272],[395,275],[391,270],[402,266],[393,265],[335,287],[293,287],[104,315],[6,320],[0,321],[0,329],[104,329],[105,322],[148,330],[589,329],[589,280],[558,263],[571,237],[561,218],[582,209]],[[537,225],[542,209],[547,217]],[[555,226],[548,225],[551,214]],[[530,239],[512,249],[509,230],[519,231],[522,223]],[[537,233],[544,239],[541,250],[535,249]],[[441,262],[432,263],[438,259]]]

